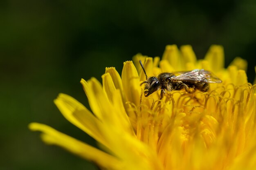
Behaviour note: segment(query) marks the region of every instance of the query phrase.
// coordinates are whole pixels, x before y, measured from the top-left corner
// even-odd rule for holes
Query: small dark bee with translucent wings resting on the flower
[[[164,97],[166,91],[178,91],[185,89],[188,93],[193,93],[196,89],[202,92],[209,90],[209,83],[221,83],[221,79],[213,75],[210,71],[204,69],[194,69],[192,71],[179,72],[180,75],[173,73],[161,73],[157,77],[148,77],[145,68],[139,60],[139,63],[146,75],[144,95],[148,97],[155,91],[161,89],[160,99]]]

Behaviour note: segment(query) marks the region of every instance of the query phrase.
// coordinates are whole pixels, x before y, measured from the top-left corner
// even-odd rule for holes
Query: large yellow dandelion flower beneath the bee
[[[139,60],[148,76],[204,68],[222,83],[210,84],[206,93],[172,91],[159,100],[157,91],[145,97]],[[107,170],[256,169],[255,85],[247,82],[243,59],[225,69],[222,46],[211,46],[204,60],[196,60],[191,46],[179,50],[169,45],[161,61],[136,55],[134,63],[137,70],[133,62],[124,62],[121,77],[115,68],[106,68],[103,86],[95,78],[81,80],[92,113],[68,95],[54,100],[63,116],[96,139],[101,150],[44,124],[29,128],[43,132],[47,144]]]

